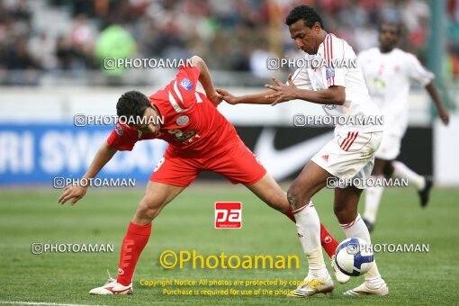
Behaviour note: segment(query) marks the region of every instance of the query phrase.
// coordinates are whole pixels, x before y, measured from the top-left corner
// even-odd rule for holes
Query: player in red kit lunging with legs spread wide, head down
[[[194,56],[189,62],[190,65],[179,68],[174,80],[149,97],[136,91],[121,95],[116,105],[118,116],[129,121],[141,120],[134,124],[119,121],[84,176],[93,178],[116,151],[131,150],[139,140],[164,139],[169,143],[122,241],[117,279],[94,288],[91,294],[132,293],[132,275],[148,242],[151,221],[203,170],[223,175],[233,184],[245,184],[262,201],[294,222],[286,193],[217,111],[221,100],[204,61]],[[196,91],[198,81],[205,94]],[[164,124],[155,120],[158,117],[163,118]],[[69,186],[58,202],[63,204],[73,199],[73,205],[85,195],[86,189],[87,186]],[[323,226],[321,234],[322,245],[332,257],[338,241]],[[345,275],[338,272],[338,278],[341,276]]]

